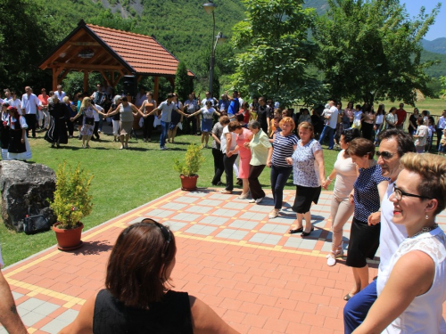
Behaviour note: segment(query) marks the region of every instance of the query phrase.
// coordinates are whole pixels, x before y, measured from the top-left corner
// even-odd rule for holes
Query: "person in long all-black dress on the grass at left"
[[[66,119],[70,116],[67,111],[65,106],[59,101],[57,95],[48,99],[50,127],[48,128],[48,131],[46,131],[44,139],[46,142],[51,143],[51,147],[54,147],[54,145],[57,144],[57,148],[59,148],[61,147],[61,143],[68,143]]]

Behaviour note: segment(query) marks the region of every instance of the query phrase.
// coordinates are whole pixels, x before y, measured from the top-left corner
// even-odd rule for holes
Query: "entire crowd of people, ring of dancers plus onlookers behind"
[[[315,228],[312,203],[317,204],[321,190],[335,182],[328,218],[332,248],[326,265],[336,265],[343,257],[343,226],[353,215],[345,262],[353,278],[351,290],[343,297],[347,301],[345,333],[446,332],[442,319],[446,237],[435,223],[446,206],[446,159],[417,154],[429,149],[434,134],[439,154],[444,152],[446,110],[436,126],[427,111],[419,114],[414,110],[409,132],[405,132],[407,112],[402,103],[386,114],[383,104],[375,112],[368,104],[353,109],[349,102],[343,110],[341,103],[330,101],[320,116],[318,110],[312,110],[310,116],[308,109],[294,113],[263,96],[249,104],[236,91],[221,95],[219,101],[209,93],[202,101],[190,94],[184,104],[176,94],[168,94],[166,101],[157,104],[152,93],[140,92],[136,102],[140,105],[117,95],[108,110],[100,105],[102,94],[84,96],[75,108],[63,92],[45,95],[46,104],[30,87],[26,92],[21,111],[15,104],[2,104],[2,156],[6,159],[29,157],[27,132],[35,136],[36,126],[48,126],[45,139],[53,146],[67,143],[72,133],[66,125],[78,118],[82,119],[80,134],[86,149],[95,133],[99,138],[98,118],[112,118],[113,135],[120,140],[121,149],[128,148],[134,117],[142,118],[147,142],[159,121],[162,151],[167,150],[167,143],[174,143],[180,124],[186,131],[201,128],[203,148],[209,147],[210,136],[213,139],[212,184],[222,184],[223,174],[226,177],[223,194],[233,193],[236,179],[242,186],[239,199],[260,204],[265,191],[259,177],[269,168],[274,206],[268,219],[284,214],[285,183],[293,174],[296,219],[289,233],[300,233],[303,238]],[[39,110],[43,118],[36,118]],[[213,124],[215,117],[219,120]],[[322,148],[325,139],[328,150],[335,145],[341,149],[328,176]],[[378,276],[370,281],[367,259],[375,257],[378,247]],[[164,225],[145,219],[128,227],[111,252],[106,289],[90,298],[76,321],[62,332],[133,332],[154,324],[173,332],[235,332],[197,298],[169,289],[176,251],[175,238]],[[128,254],[138,257],[128,261]],[[147,265],[138,265],[139,257]],[[146,286],[135,290],[142,278],[147,279]],[[128,318],[129,310],[131,314],[137,310],[135,317]],[[178,321],[164,316],[170,312],[178,314]]]

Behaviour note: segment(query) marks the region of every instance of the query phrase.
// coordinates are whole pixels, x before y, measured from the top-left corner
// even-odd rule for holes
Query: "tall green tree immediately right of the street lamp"
[[[285,106],[312,102],[322,87],[308,65],[315,47],[308,41],[315,12],[303,0],[243,0],[246,20],[233,29],[234,86],[243,94],[267,95]]]

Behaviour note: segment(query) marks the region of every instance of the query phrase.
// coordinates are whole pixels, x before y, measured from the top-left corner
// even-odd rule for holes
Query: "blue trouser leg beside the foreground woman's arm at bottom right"
[[[345,334],[356,330],[366,319],[368,310],[375,303],[376,298],[376,280],[350,298],[343,307],[343,331]]]

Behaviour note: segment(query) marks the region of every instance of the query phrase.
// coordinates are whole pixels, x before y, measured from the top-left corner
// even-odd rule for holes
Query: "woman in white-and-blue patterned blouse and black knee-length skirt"
[[[320,143],[314,139],[313,126],[309,122],[302,122],[297,129],[301,139],[297,142],[293,156],[286,158],[286,162],[293,165],[293,183],[296,185],[293,211],[296,213],[297,227],[290,233],[301,233],[302,237],[307,237],[314,231],[311,203],[318,204],[320,184],[326,181],[326,171],[324,153]]]

